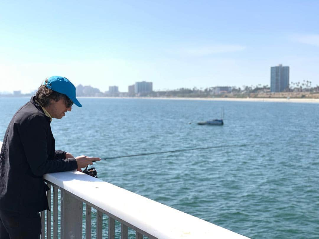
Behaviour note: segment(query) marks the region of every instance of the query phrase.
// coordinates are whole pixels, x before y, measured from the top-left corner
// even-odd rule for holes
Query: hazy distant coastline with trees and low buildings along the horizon
[[[216,89],[226,88],[227,91],[221,91]],[[0,97],[31,97],[36,91],[22,94],[21,91],[0,92]],[[224,101],[296,101],[301,99],[302,102],[311,101],[317,102],[319,100],[319,86],[305,88],[294,87],[286,92],[270,92],[269,86],[243,86],[243,88],[237,88],[235,86],[225,87],[209,87],[205,89],[193,89],[180,88],[175,90],[164,91],[152,91],[138,94],[132,94],[129,92],[101,92],[98,88],[92,86],[78,85],[76,87],[76,93],[78,97],[131,97],[131,98],[159,98],[159,99],[201,99],[201,100],[224,100]]]

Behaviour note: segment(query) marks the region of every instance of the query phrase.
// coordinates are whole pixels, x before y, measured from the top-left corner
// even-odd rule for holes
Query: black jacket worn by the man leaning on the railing
[[[0,153],[0,209],[40,212],[49,209],[43,175],[77,168],[75,158],[55,151],[47,117],[35,96],[13,116]]]

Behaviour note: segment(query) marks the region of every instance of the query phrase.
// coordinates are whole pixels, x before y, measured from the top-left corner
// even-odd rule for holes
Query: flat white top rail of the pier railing
[[[159,239],[248,238],[76,170],[43,177]]]

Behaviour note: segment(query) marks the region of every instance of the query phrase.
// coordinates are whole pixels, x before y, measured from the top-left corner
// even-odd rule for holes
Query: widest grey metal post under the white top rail
[[[61,239],[82,238],[82,201],[61,190]]]

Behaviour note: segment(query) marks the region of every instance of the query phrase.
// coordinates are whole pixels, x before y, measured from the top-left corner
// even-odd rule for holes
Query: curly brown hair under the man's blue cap
[[[45,80],[48,83],[48,78]],[[48,89],[45,85],[41,85],[35,93],[36,100],[42,107],[46,107],[50,104],[51,100],[59,101],[63,99],[66,105],[70,105],[72,101],[65,94]]]

